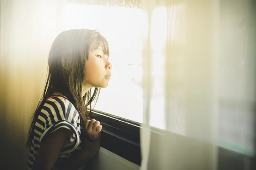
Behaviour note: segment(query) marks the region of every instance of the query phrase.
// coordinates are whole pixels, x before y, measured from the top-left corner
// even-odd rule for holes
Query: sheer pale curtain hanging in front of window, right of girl
[[[232,122],[240,106],[250,111],[251,118],[255,112],[255,20],[251,6],[250,0],[142,0],[141,8],[148,14],[148,34],[143,49],[141,170],[216,170],[220,134],[224,138],[235,134],[234,143],[243,136],[244,146],[254,153],[254,122],[247,119],[249,114],[241,111],[239,124]],[[162,14],[155,19],[157,10]],[[165,38],[151,34],[156,27],[152,20],[165,20],[157,26],[159,37],[164,34]],[[162,46],[154,56],[156,44]],[[164,62],[157,63],[163,56]],[[154,96],[159,80],[152,70],[157,64],[164,69],[163,83],[158,85],[164,89],[162,105]],[[223,109],[223,98],[233,103],[229,105],[233,111]],[[164,109],[155,109],[159,106]],[[154,114],[164,114],[166,131],[162,134],[150,126],[150,122],[159,121],[151,119]],[[244,116],[247,118],[242,119]],[[219,121],[227,127],[219,130]],[[236,133],[237,126],[244,131]],[[227,129],[231,130],[223,133]]]

